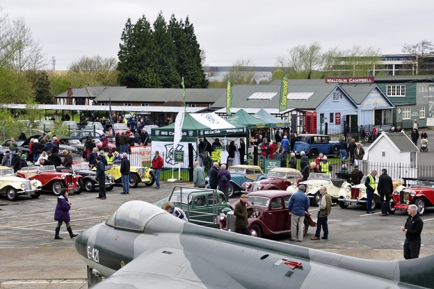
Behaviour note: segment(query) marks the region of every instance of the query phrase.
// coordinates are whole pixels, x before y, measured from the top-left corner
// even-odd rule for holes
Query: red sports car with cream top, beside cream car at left
[[[81,176],[70,172],[56,172],[54,165],[23,167],[17,172],[17,176],[31,181],[40,181],[42,190],[51,190],[56,196],[61,195],[62,188],[68,188],[70,192],[76,194],[83,190]]]

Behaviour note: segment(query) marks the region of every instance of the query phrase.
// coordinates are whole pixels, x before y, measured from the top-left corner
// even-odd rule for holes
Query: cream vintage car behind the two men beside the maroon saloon
[[[346,183],[345,179],[331,179],[330,174],[322,174],[312,172],[307,178],[307,181],[302,181],[298,183],[299,185],[306,186],[306,195],[310,198],[312,206],[318,206],[319,201],[321,201],[321,194],[319,193],[319,188],[324,186],[327,188],[328,194],[332,197],[332,203],[336,203],[339,199],[339,191],[346,188],[346,186],[351,185]],[[288,192],[296,192],[298,190],[298,185],[290,185],[287,188]]]

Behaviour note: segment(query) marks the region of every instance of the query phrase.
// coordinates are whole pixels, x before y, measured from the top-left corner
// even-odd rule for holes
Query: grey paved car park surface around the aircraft
[[[72,229],[74,233],[81,233],[104,222],[125,201],[138,199],[153,203],[166,197],[174,185],[163,181],[161,189],[156,190],[140,183],[129,195],[120,195],[122,186],[116,185],[107,192],[106,200],[95,199],[97,192],[70,195]],[[64,239],[54,240],[55,207],[56,197],[50,193],[42,193],[39,199],[21,197],[15,202],[0,198],[0,288],[87,288],[86,265],[76,253],[74,239],[67,235],[65,224],[61,228]],[[317,212],[318,208],[311,208],[314,221]],[[305,240],[296,245],[360,258],[403,259],[405,237],[400,227],[406,213],[380,217],[379,209],[373,215],[365,212],[362,206],[346,209],[333,206],[329,217],[329,240],[310,240],[314,236],[311,227]],[[421,255],[433,254],[434,209],[428,209],[422,220]],[[289,242],[289,235],[271,239]]]

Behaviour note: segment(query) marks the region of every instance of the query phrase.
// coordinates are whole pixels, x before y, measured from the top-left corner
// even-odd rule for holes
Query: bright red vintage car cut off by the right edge
[[[403,182],[404,184],[393,192],[389,213],[395,213],[396,210],[407,211],[408,205],[415,204],[417,213],[424,215],[426,207],[434,206],[433,177],[403,178]]]

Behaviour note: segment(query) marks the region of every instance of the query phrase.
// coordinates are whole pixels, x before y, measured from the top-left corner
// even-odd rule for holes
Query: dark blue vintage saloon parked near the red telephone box
[[[300,156],[301,151],[305,151],[309,158],[316,158],[319,153],[323,153],[324,156],[336,156],[339,154],[339,145],[338,142],[330,142],[328,135],[300,134],[297,136],[293,152]]]

